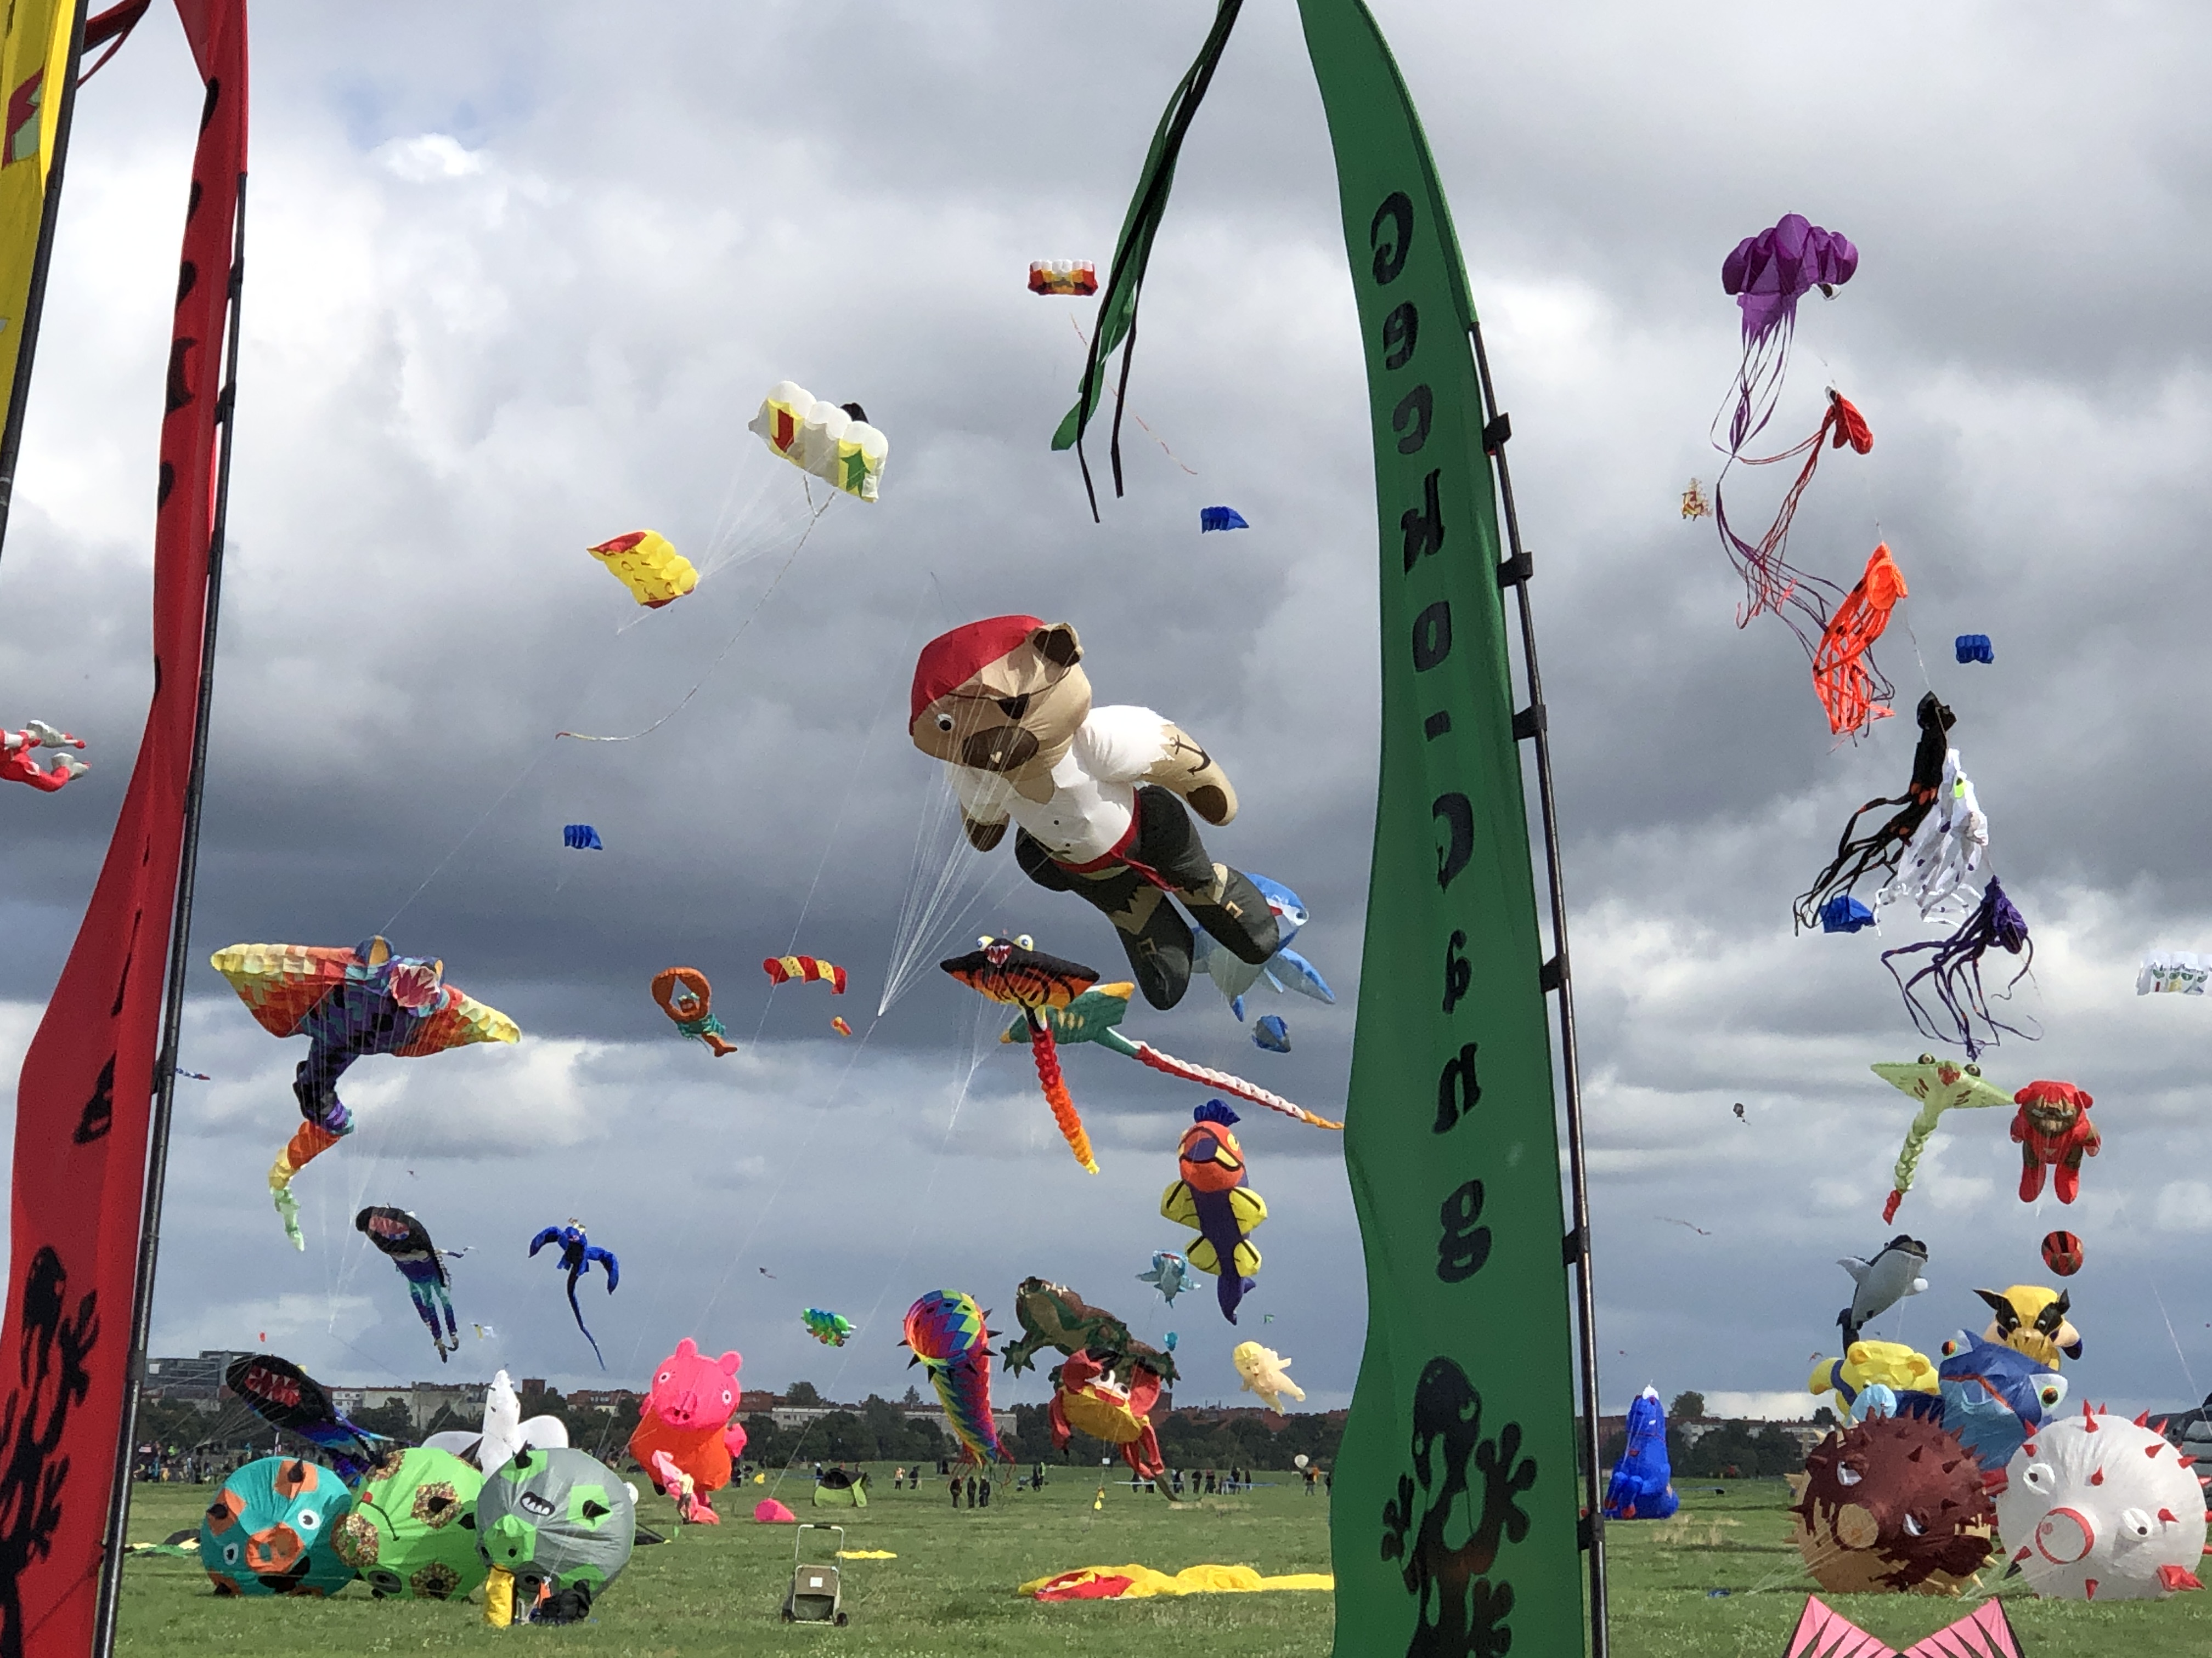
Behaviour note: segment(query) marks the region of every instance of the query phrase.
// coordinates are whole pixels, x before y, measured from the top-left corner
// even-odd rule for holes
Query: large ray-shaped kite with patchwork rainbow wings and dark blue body
[[[292,1072],[292,1096],[305,1119],[270,1165],[270,1198],[294,1249],[299,1229],[292,1176],[354,1132],[338,1099],[338,1077],[363,1054],[420,1054],[471,1041],[520,1041],[522,1030],[498,1008],[445,984],[445,962],[394,955],[372,937],[354,948],[321,944],[232,944],[210,962],[254,1021],[276,1037],[307,1037],[307,1057]]]

